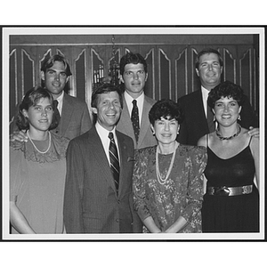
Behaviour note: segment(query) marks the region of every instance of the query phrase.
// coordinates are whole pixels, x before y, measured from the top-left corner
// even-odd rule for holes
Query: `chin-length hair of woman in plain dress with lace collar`
[[[20,103],[18,114],[15,117],[15,122],[20,130],[28,130],[29,128],[28,117],[25,117],[23,115],[23,109],[28,111],[29,107],[35,106],[42,98],[48,98],[53,107],[53,110],[55,109],[55,105],[53,104],[53,95],[48,90],[44,89],[41,86],[31,88],[23,97]],[[59,125],[59,121],[53,114],[52,124],[50,125],[48,130],[56,128],[57,125]]]

